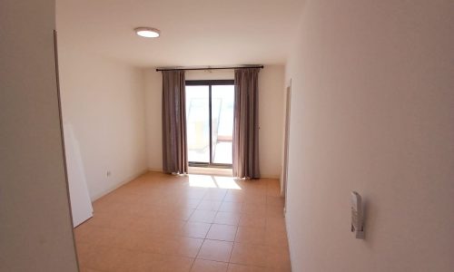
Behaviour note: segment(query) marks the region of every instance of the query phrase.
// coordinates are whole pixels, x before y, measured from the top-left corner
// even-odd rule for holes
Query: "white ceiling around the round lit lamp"
[[[303,0],[57,0],[59,43],[135,66],[285,63]],[[161,37],[133,29],[151,26]]]

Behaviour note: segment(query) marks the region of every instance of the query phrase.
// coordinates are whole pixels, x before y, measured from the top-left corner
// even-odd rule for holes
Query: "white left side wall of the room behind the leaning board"
[[[147,169],[143,72],[74,49],[64,30],[59,65],[64,122],[79,141],[94,200]]]

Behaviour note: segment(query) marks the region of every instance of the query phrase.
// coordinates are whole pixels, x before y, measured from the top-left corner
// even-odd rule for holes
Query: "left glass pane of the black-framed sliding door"
[[[210,88],[186,86],[188,160],[210,163]]]

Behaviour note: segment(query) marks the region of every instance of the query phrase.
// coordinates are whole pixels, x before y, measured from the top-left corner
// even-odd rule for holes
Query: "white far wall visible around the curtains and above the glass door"
[[[162,141],[162,75],[155,69],[145,71],[146,130],[148,168],[163,169]],[[188,71],[186,80],[233,79],[233,70]],[[281,174],[282,114],[284,67],[265,66],[259,73],[260,167],[263,178]]]

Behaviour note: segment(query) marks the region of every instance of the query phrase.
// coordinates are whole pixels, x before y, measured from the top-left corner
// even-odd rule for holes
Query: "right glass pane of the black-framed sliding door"
[[[232,164],[233,85],[212,85],[212,162]]]

